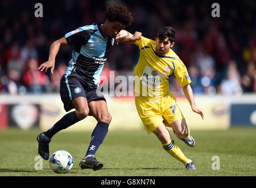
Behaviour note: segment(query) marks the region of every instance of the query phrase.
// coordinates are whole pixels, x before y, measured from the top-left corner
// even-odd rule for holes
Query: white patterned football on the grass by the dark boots
[[[50,166],[55,173],[67,173],[73,166],[73,157],[64,150],[58,150],[52,154]]]

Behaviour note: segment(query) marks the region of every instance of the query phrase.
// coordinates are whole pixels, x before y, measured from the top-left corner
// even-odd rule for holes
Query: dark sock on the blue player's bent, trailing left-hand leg
[[[76,111],[70,112],[63,116],[60,120],[58,120],[58,122],[55,123],[55,125],[52,126],[49,130],[44,132],[44,135],[51,139],[51,137],[57,132],[66,129],[67,127],[75,124],[76,122],[78,122]]]

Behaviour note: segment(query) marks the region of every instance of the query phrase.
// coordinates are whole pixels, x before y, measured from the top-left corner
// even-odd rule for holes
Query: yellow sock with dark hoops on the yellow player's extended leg
[[[182,151],[179,149],[179,147],[176,145],[174,140],[170,139],[168,143],[163,144],[163,149],[166,150],[170,155],[175,157],[175,159],[178,159],[180,162],[185,164],[188,162],[188,158],[182,153]]]

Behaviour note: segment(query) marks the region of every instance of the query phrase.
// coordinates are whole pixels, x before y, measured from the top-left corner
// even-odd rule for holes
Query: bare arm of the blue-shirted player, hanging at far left
[[[49,58],[48,61],[45,63],[42,63],[38,69],[41,71],[46,72],[48,68],[51,68],[51,73],[53,75],[53,70],[55,66],[55,57],[60,50],[60,46],[67,46],[68,42],[65,39],[65,36],[63,38],[58,39],[57,41],[54,41],[50,47],[50,52],[49,52]]]

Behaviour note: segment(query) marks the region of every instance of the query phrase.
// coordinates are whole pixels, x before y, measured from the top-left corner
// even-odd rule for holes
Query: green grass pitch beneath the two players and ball
[[[191,130],[195,147],[185,145],[170,134],[183,153],[195,162],[197,170],[185,166],[170,156],[152,134],[141,131],[109,131],[96,158],[104,163],[101,170],[81,170],[91,132],[59,132],[50,143],[50,155],[67,150],[74,166],[66,174],[55,174],[49,160],[43,160],[42,170],[35,170],[38,162],[39,129],[8,129],[0,131],[0,176],[256,176],[256,127],[228,130]],[[219,170],[213,170],[213,156],[219,157]]]

